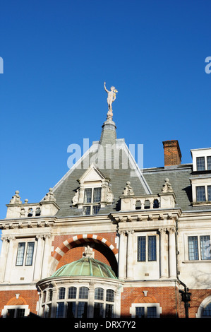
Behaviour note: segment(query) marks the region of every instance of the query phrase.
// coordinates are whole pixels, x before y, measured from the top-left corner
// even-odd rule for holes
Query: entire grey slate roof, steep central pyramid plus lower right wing
[[[142,196],[146,194],[159,194],[164,184],[164,179],[169,178],[169,182],[176,194],[176,207],[180,207],[182,211],[195,211],[200,209],[206,209],[206,207],[193,207],[191,206],[192,192],[190,177],[192,174],[192,164],[188,165],[176,165],[174,167],[159,167],[145,169],[143,172],[138,170],[138,166],[133,176],[131,176],[131,168],[123,168],[123,160],[130,160],[134,162],[133,157],[128,155],[128,147],[123,139],[116,139],[116,125],[113,121],[105,121],[102,126],[102,134],[100,141],[93,142],[91,148],[87,153],[78,161],[71,170],[69,170],[65,176],[54,186],[54,196],[56,203],[59,205],[60,210],[56,214],[57,217],[68,217],[82,215],[82,211],[72,206],[72,198],[76,193],[76,189],[79,188],[78,179],[87,170],[87,160],[89,159],[89,165],[92,163],[93,156],[97,156],[97,162],[102,161],[105,155],[100,154],[100,147],[105,148],[107,144],[116,144],[119,158],[119,168],[114,168],[114,165],[110,169],[100,165],[98,167],[105,177],[109,177],[111,183],[111,190],[114,194],[114,203],[108,205],[105,208],[101,208],[98,214],[109,214],[114,211],[120,210],[119,196],[123,192],[123,188],[126,186],[126,182],[130,181],[135,196]],[[97,153],[97,155],[96,155]],[[115,154],[115,153],[114,153]],[[114,159],[114,155],[112,160]],[[80,167],[78,167],[80,165]],[[98,166],[97,164],[95,164]],[[103,167],[102,167],[103,166]],[[209,207],[207,207],[209,208]]]

